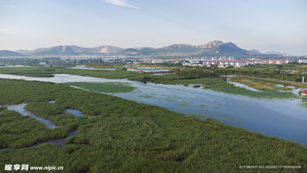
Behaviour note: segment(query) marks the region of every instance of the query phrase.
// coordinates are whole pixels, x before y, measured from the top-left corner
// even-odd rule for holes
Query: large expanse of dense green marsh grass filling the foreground
[[[45,143],[1,150],[1,167],[26,163],[60,165],[64,172],[238,172],[239,163],[307,165],[305,146],[198,118],[206,115],[186,116],[52,82],[0,79],[0,92],[0,105],[32,103],[29,111],[59,126],[48,129],[2,106],[2,147],[25,147],[76,130],[63,147]],[[60,115],[64,107],[97,117]]]

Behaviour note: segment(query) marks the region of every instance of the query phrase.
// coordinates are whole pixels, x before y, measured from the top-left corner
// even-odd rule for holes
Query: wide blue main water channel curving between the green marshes
[[[0,78],[40,80],[55,83],[84,81],[130,82],[133,86],[138,87],[137,91],[112,95],[139,103],[165,107],[185,115],[191,115],[192,113],[206,115],[213,119],[223,120],[222,123],[225,124],[307,144],[307,109],[300,106],[301,99],[254,99],[204,90],[202,87],[185,87],[183,84],[163,85],[151,82],[129,81],[127,79],[92,78],[69,74],[54,75],[54,78],[31,78],[0,74]]]

